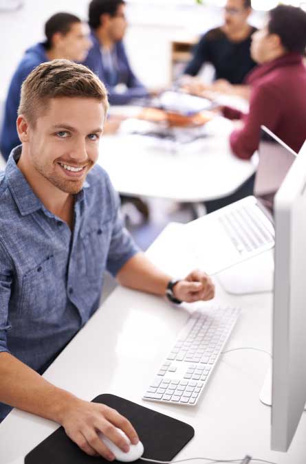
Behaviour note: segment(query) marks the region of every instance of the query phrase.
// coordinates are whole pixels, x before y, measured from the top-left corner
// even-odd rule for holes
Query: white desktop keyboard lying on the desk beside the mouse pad
[[[207,307],[195,311],[179,333],[143,399],[195,406],[239,311],[230,307]]]

